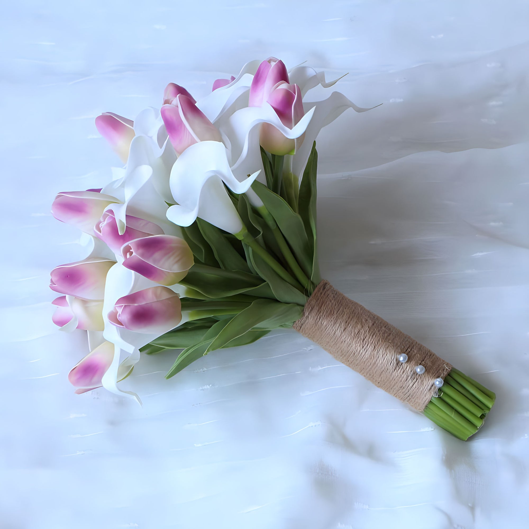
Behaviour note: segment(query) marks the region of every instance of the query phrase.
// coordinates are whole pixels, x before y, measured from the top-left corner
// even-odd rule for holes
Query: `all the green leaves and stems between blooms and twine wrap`
[[[202,219],[182,228],[195,257],[180,281],[187,321],[141,348],[147,354],[180,350],[167,378],[211,351],[291,327],[320,280],[315,144],[299,187],[285,157],[261,149],[261,159],[267,185],[255,182],[252,188],[263,207],[227,189],[247,233],[235,237]]]

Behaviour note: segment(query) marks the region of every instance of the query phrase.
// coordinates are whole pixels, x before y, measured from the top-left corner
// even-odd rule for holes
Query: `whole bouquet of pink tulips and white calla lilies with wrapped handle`
[[[346,109],[368,110],[339,92],[304,101],[337,80],[269,58],[199,101],[170,83],[134,121],[96,118],[125,166],[52,205],[90,248],[51,271],[54,323],[88,334],[68,376],[76,393],[129,393],[118,382],[142,354],[173,354],[170,378],[293,328],[459,439],[478,430],[494,393],[320,277],[315,139]]]

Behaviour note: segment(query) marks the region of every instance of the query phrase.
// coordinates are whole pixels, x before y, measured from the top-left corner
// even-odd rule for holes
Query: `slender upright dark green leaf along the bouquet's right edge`
[[[299,186],[298,211],[303,220],[305,232],[311,246],[313,262],[311,280],[315,282],[315,284],[318,284],[318,282],[321,281],[316,245],[317,167],[318,152],[316,151],[316,142],[314,142],[312,145],[311,156],[308,157],[301,185]]]

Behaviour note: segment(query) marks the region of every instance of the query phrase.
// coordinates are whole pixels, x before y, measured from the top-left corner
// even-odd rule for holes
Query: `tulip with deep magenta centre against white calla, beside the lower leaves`
[[[163,334],[174,329],[182,319],[178,294],[166,287],[151,287],[116,301],[108,320],[130,331]]]

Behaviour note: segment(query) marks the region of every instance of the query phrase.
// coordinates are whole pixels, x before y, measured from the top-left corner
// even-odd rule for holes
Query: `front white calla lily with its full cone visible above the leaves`
[[[224,145],[202,141],[188,147],[171,170],[170,186],[176,202],[167,210],[167,218],[189,226],[197,216],[230,233],[238,233],[243,225],[224,184],[234,193],[245,193],[259,170],[249,177],[235,178]]]

